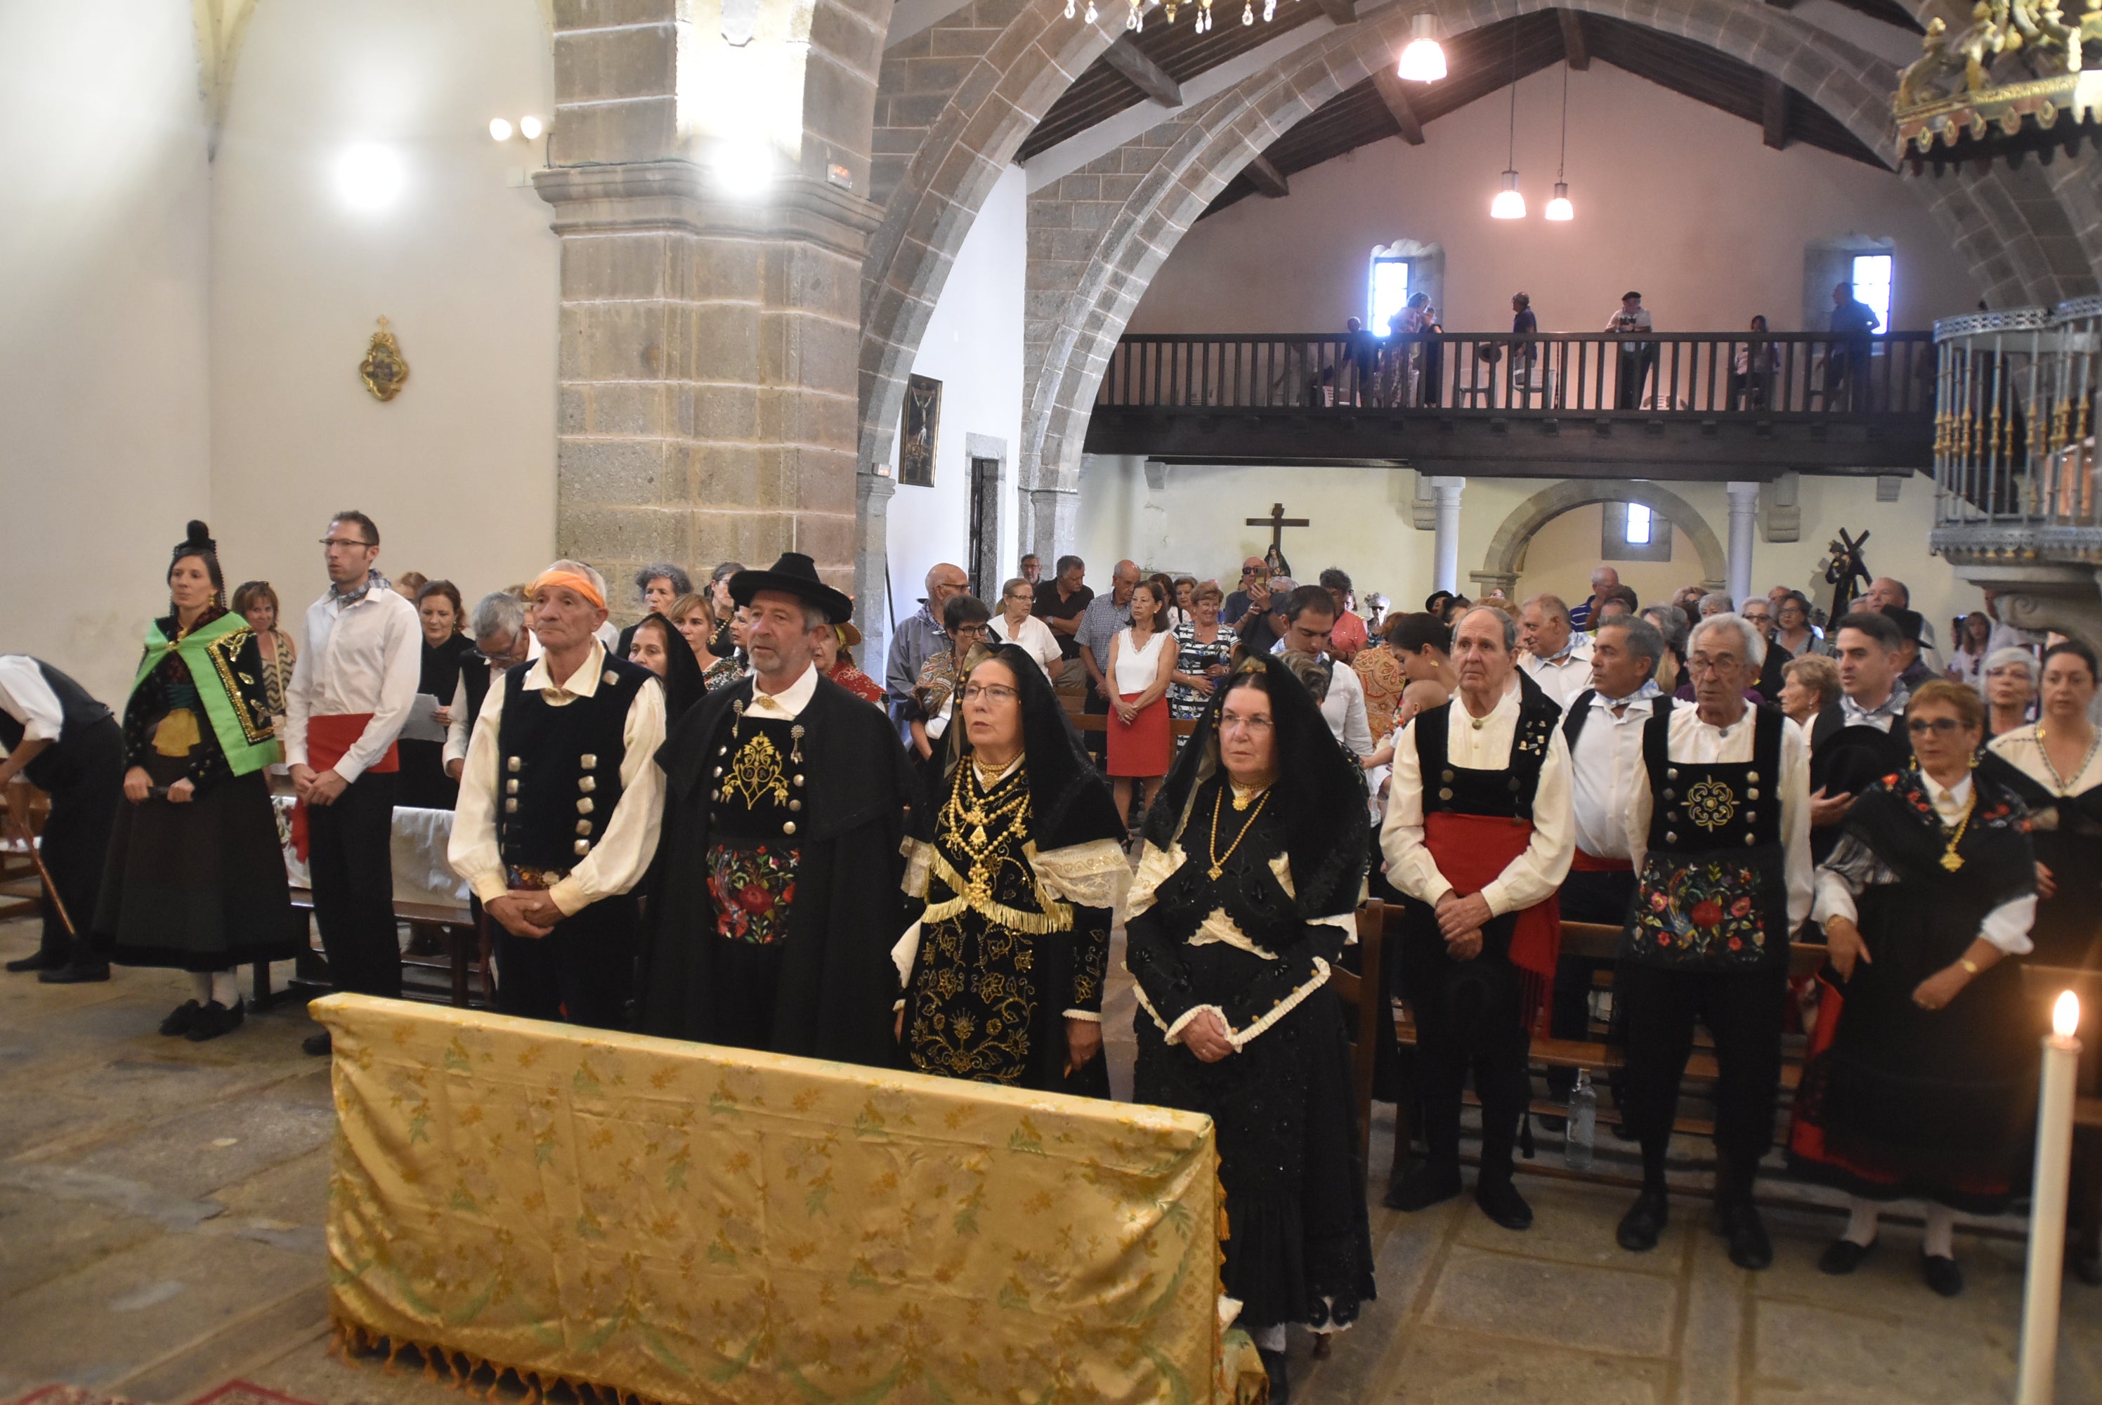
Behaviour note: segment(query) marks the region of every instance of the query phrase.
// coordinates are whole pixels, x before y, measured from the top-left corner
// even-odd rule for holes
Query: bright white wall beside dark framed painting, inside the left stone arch
[[[971,568],[971,463],[967,435],[1003,440],[1001,581],[1015,570],[1015,450],[1022,442],[1022,271],[1028,259],[1028,191],[1009,166],[948,271],[912,374],[942,383],[942,423],[931,488],[898,488],[889,505],[891,608],[919,610],[935,562]],[[898,435],[904,437],[904,435]],[[895,442],[891,473],[898,473]],[[1001,581],[988,593],[1001,589]],[[881,660],[874,660],[881,667]]]

